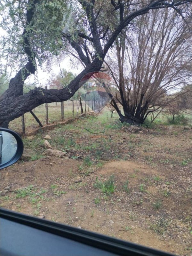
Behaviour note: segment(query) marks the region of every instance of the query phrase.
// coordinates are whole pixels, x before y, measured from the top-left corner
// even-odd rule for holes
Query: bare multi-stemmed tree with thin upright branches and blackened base
[[[106,64],[119,92],[111,92],[112,105],[122,122],[142,124],[150,113],[171,106],[184,94],[172,95],[191,81],[190,39],[189,25],[167,9],[138,17],[116,38]]]

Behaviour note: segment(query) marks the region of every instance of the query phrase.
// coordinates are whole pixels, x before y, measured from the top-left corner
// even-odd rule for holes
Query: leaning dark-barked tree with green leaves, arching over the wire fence
[[[9,89],[0,98],[0,126],[33,108],[70,99],[87,75],[100,70],[117,36],[136,17],[153,9],[175,9],[184,16],[192,0],[4,0],[0,3],[2,33],[1,64],[15,71]],[[36,87],[23,93],[28,76],[37,65],[49,62],[66,49],[84,63],[65,88]],[[72,52],[72,53],[73,53]],[[2,66],[1,66],[2,67]],[[86,82],[86,79],[84,79]]]

